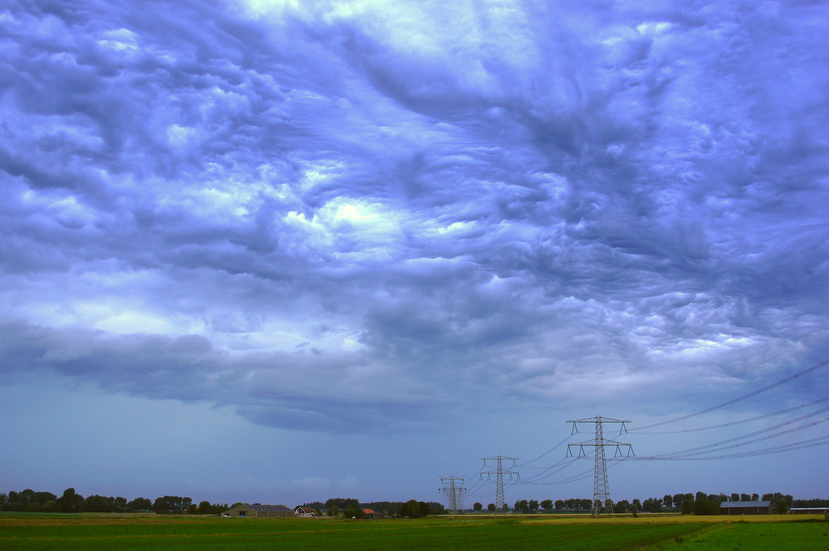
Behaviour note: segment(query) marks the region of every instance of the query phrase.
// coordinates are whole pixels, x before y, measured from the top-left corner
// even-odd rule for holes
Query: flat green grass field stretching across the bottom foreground
[[[597,520],[520,516],[493,519],[465,515],[454,519],[344,521],[156,515],[0,515],[0,549],[829,549],[827,522],[793,522],[791,516],[747,519],[749,522],[734,522],[721,516]],[[805,519],[798,517],[797,520]]]

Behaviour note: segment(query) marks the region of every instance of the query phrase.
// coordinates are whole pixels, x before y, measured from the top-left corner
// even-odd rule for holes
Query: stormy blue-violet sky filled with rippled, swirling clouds
[[[504,455],[508,502],[589,498],[561,481],[592,459],[539,468],[592,437],[565,420],[829,359],[827,52],[824,2],[6,2],[0,491],[293,506],[454,475],[486,505]],[[748,452],[826,436],[824,407],[619,438],[813,414],[722,453]],[[611,494],[826,498],[826,450],[611,463]]]

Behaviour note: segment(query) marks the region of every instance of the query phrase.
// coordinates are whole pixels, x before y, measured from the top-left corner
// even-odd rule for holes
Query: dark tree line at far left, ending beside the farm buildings
[[[0,510],[33,513],[134,513],[154,512],[167,515],[218,515],[241,503],[228,506],[226,503],[211,504],[202,501],[196,505],[189,497],[164,495],[155,501],[137,497],[128,501],[124,497],[89,495],[86,498],[66,488],[61,497],[49,491],[10,491],[0,493]]]

